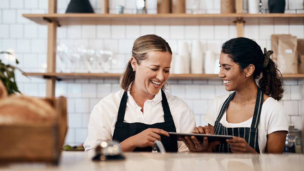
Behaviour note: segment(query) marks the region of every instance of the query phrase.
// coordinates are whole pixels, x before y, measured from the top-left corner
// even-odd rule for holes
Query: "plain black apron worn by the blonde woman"
[[[161,90],[161,104],[163,106],[164,110],[164,122],[161,123],[155,123],[152,125],[143,124],[143,123],[126,123],[123,122],[126,112],[126,105],[127,105],[127,99],[128,95],[127,92],[123,93],[123,97],[120,101],[119,110],[118,110],[118,117],[115,124],[114,134],[113,134],[113,140],[117,140],[119,142],[124,141],[125,139],[136,135],[148,128],[159,128],[163,129],[167,132],[176,132],[175,124],[170,112],[170,108],[168,105],[168,101],[166,98],[165,93],[163,90]],[[177,141],[174,140],[174,138],[167,137],[164,135],[161,135],[161,143],[164,145],[164,148],[166,149],[166,152],[177,152],[178,150],[178,144]],[[134,151],[141,151],[141,152],[151,152],[152,147],[145,147],[145,148],[135,148]]]

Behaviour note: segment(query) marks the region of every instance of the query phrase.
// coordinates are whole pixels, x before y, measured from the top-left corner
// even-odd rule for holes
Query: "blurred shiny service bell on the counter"
[[[95,156],[92,158],[94,161],[121,159],[125,159],[125,157],[123,156],[123,151],[117,141],[102,141],[95,148]]]

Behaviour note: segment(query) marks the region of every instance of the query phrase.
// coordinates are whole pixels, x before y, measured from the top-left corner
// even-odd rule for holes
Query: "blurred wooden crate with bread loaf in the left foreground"
[[[0,162],[58,164],[67,133],[66,98],[0,99]]]

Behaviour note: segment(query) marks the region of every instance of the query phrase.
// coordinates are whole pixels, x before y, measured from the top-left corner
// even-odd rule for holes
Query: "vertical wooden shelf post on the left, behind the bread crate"
[[[49,0],[49,14],[57,12],[57,0]],[[47,72],[56,72],[57,23],[47,23]],[[56,78],[46,80],[46,97],[55,97]]]

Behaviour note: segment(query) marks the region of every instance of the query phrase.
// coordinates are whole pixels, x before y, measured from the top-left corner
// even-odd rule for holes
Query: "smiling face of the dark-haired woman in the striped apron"
[[[223,79],[227,91],[237,91],[246,87],[248,79],[246,74],[243,71],[240,72],[240,66],[233,62],[228,54],[220,54],[219,64],[221,67],[219,77]]]

